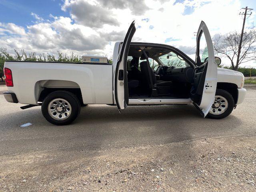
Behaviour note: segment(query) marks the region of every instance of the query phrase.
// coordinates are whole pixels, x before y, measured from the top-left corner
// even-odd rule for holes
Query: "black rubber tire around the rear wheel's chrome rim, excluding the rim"
[[[72,108],[70,116],[68,116],[68,118],[66,118],[64,120],[56,120],[48,112],[49,103],[56,98],[62,98],[64,100],[68,101]],[[77,118],[79,113],[80,113],[80,102],[74,94],[72,94],[71,92],[68,92],[68,91],[52,92],[48,96],[46,96],[46,98],[44,99],[44,101],[42,103],[42,114],[43,114],[44,118],[48,122],[50,122],[51,124],[54,124],[54,125],[70,124]]]

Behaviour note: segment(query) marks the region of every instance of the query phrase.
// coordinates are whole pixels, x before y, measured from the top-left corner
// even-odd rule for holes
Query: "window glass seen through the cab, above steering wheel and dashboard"
[[[180,56],[178,56],[174,52],[170,52],[168,54],[164,54],[159,57],[159,60],[165,66],[176,66],[176,67],[188,67],[189,64]]]

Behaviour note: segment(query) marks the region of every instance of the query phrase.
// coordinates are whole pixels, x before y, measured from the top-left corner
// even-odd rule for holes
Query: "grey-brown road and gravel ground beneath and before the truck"
[[[193,105],[88,105],[54,126],[20,106],[0,94],[0,191],[256,190],[256,90],[222,120]]]

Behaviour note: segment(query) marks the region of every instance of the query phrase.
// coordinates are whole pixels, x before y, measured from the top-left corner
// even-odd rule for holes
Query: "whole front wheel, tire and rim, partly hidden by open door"
[[[212,119],[222,119],[227,117],[234,109],[235,102],[232,95],[222,89],[217,89],[214,104],[208,113],[208,117]]]

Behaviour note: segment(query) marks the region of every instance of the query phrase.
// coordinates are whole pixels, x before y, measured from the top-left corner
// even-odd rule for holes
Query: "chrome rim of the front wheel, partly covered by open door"
[[[214,104],[212,104],[212,108],[210,109],[210,114],[220,115],[223,114],[228,109],[228,100],[223,96],[216,95]]]

